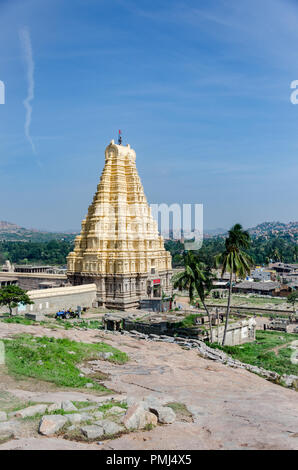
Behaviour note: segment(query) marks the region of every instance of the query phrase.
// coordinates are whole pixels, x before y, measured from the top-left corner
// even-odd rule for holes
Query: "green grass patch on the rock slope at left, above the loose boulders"
[[[124,363],[128,360],[125,353],[105,343],[86,344],[46,336],[37,338],[28,334],[4,342],[10,374],[34,377],[64,387],[82,388],[86,383],[93,383],[92,390],[106,391],[92,378],[80,377],[76,365],[97,359],[100,352],[113,352],[109,358],[112,362]]]

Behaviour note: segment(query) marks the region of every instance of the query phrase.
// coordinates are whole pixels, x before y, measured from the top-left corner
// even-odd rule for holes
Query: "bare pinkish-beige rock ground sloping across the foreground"
[[[105,341],[128,353],[131,359],[124,365],[92,361],[94,370],[109,374],[105,382],[108,388],[129,397],[155,395],[165,402],[182,402],[193,413],[193,423],[158,426],[150,432],[107,441],[99,448],[298,449],[298,395],[293,390],[245,370],[207,361],[195,350],[186,351],[175,344],[146,342],[96,330],[53,331],[40,326],[0,325],[0,338],[21,332],[84,342]],[[19,445],[41,448],[43,444],[37,440],[38,443],[32,440]],[[61,440],[56,441],[60,448]],[[71,445],[78,448],[75,443],[67,443],[68,448]],[[15,441],[5,446],[13,448]]]

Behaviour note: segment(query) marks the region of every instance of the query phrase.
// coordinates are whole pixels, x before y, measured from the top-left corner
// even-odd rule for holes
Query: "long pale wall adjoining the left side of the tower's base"
[[[96,300],[96,285],[33,290],[28,295],[34,304],[18,307],[16,313],[56,313],[62,308],[76,309],[78,305],[82,308],[92,307]]]

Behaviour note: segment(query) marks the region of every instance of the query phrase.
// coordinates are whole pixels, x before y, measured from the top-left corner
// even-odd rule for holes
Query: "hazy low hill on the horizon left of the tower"
[[[27,229],[11,222],[0,221],[0,241],[72,241],[76,235],[77,233],[47,232],[33,228]]]

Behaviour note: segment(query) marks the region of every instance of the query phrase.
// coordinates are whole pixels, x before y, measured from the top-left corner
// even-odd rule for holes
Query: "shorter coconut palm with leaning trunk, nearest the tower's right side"
[[[210,269],[198,260],[192,251],[184,255],[185,270],[174,276],[174,288],[188,290],[189,300],[192,303],[199,296],[209,319],[210,342],[212,338],[212,324],[210,312],[206,306],[205,299],[212,288],[212,279],[214,278]]]

